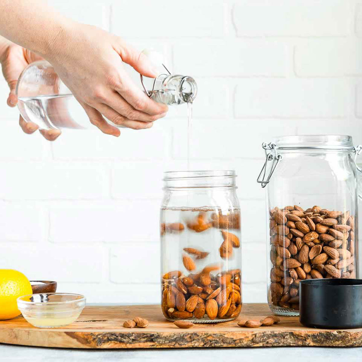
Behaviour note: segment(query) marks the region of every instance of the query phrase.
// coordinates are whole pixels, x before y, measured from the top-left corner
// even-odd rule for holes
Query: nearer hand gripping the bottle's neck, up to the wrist
[[[121,38],[90,25],[71,23],[50,42],[43,56],[83,106],[90,122],[102,132],[119,136],[116,125],[150,128],[168,107],[143,93],[122,61],[144,76],[157,73],[147,57]]]

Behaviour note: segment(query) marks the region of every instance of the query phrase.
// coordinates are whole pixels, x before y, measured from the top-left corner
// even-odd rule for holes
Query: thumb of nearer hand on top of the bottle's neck
[[[123,62],[132,66],[136,71],[140,74],[156,78],[158,75],[158,71],[156,66],[144,55],[142,52],[136,50],[134,47],[128,44],[124,44],[121,47],[120,52],[121,58]]]

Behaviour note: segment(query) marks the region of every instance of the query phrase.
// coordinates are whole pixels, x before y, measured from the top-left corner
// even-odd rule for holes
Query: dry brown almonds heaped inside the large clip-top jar
[[[299,311],[301,280],[355,278],[354,215],[349,211],[290,205],[269,212],[268,303],[274,311]]]

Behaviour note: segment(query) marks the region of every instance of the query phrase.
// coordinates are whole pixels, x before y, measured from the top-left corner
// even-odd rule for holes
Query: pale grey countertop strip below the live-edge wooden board
[[[231,358],[231,359],[230,359]],[[26,347],[0,344],[0,361],[292,361],[306,362],[313,358],[333,361],[361,361],[362,347],[275,347],[275,348],[193,348],[164,350],[81,350]]]

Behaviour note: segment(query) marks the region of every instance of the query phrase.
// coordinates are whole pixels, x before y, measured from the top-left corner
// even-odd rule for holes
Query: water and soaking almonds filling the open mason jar
[[[242,306],[239,210],[173,211],[163,213],[160,227],[164,316],[202,323],[235,319]]]

